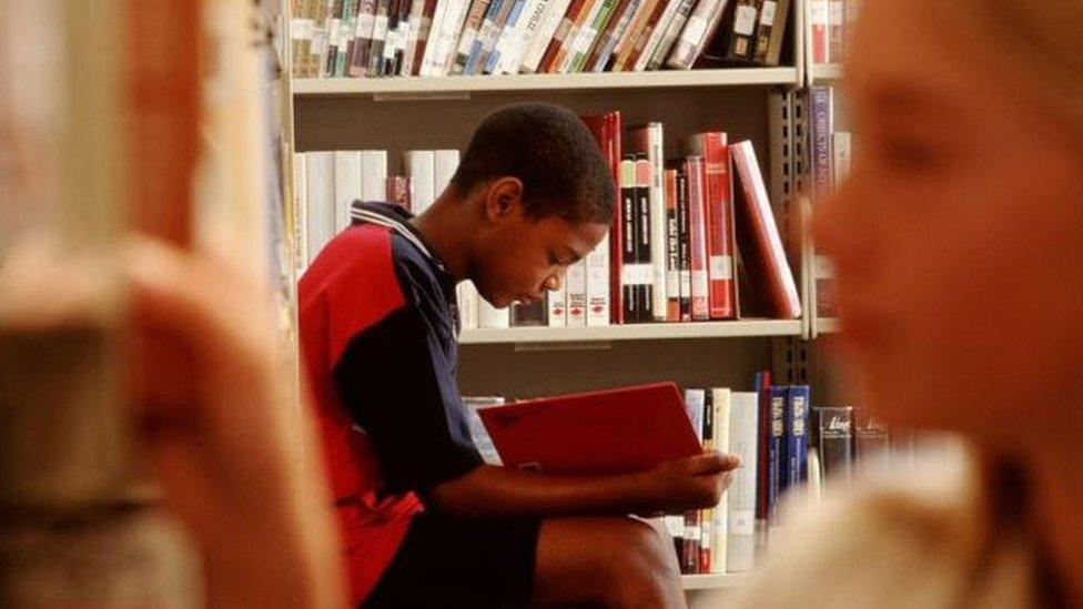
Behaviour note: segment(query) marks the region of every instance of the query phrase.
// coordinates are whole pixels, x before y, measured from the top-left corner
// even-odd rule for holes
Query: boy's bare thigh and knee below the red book
[[[596,603],[629,587],[679,590],[672,540],[654,522],[630,517],[546,519],[537,555],[534,602],[539,606]]]

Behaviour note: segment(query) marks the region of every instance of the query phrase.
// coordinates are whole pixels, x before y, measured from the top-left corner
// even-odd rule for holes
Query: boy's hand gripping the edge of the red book
[[[718,505],[729,486],[739,457],[709,451],[659,464],[644,471],[645,514],[678,512]]]

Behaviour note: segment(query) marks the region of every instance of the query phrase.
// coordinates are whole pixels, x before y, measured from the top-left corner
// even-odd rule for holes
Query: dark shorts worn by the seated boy
[[[464,520],[419,514],[362,607],[526,607],[534,593],[537,518]]]

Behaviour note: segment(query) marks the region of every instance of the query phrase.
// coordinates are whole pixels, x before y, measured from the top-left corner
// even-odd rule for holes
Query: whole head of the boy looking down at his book
[[[508,105],[475,131],[452,179],[473,213],[467,274],[498,307],[530,301],[605,237],[616,197],[598,142],[567,109]]]

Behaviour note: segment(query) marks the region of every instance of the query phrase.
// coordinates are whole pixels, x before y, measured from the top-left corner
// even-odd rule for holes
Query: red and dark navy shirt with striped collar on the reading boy
[[[360,603],[418,494],[482,464],[456,383],[455,280],[409,214],[355,202],[300,283],[301,345]]]

